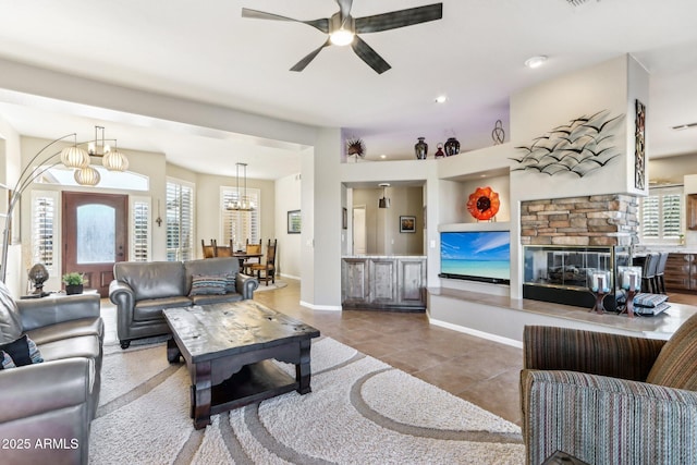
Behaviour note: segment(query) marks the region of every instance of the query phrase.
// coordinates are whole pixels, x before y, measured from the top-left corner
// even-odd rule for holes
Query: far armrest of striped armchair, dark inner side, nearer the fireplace
[[[644,381],[665,341],[570,328],[526,326],[523,367]]]

